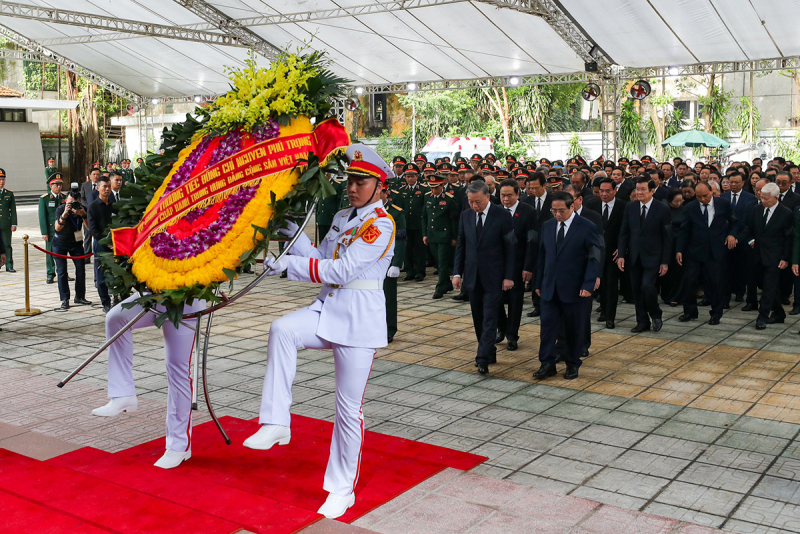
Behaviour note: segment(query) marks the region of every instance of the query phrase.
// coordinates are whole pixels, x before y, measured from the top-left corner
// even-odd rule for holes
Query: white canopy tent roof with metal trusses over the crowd
[[[358,92],[605,91],[615,77],[797,68],[799,27],[797,0],[0,0],[0,36],[24,49],[0,57],[56,62],[145,105],[223,93],[249,49],[266,63],[304,43]],[[619,101],[605,96],[604,139]]]

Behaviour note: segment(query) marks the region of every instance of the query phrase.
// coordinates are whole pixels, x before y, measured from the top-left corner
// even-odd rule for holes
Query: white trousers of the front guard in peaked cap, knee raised
[[[334,495],[344,496],[350,495],[358,483],[364,442],[364,390],[375,349],[346,347],[318,337],[319,315],[318,311],[302,308],[272,323],[259,421],[290,426],[289,408],[292,405],[292,382],[297,371],[297,349],[333,349],[336,418],[323,488]]]

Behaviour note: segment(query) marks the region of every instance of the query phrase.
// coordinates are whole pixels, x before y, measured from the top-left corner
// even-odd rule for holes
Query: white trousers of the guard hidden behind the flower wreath
[[[135,300],[134,295],[124,302]],[[203,310],[206,302],[195,301],[184,307],[184,315]],[[141,306],[125,309],[114,306],[106,315],[106,339],[110,338],[142,311]],[[133,328],[153,326],[156,316],[146,313]],[[188,451],[192,442],[192,374],[191,361],[196,333],[191,328],[179,328],[166,321],[164,348],[167,364],[167,449]],[[108,347],[108,396],[132,397],[136,395],[133,383],[133,332],[128,330]]]

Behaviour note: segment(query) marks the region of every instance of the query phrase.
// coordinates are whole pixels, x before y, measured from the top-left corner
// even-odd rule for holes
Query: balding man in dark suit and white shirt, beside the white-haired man
[[[697,319],[697,283],[703,274],[703,288],[711,302],[711,320],[719,324],[725,306],[723,271],[728,249],[736,246],[732,234],[736,218],[731,203],[724,198],[714,198],[705,182],[695,188],[697,202],[683,210],[683,222],[678,233],[678,250],[675,258],[683,266],[684,295],[682,323]]]

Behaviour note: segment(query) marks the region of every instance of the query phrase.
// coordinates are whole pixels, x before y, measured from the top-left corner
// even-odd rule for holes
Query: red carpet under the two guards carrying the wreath
[[[321,518],[332,423],[292,416],[291,444],[269,451],[241,445],[258,429],[256,420],[222,423],[233,445],[213,423],[197,426],[192,459],[171,471],[152,465],[163,438],[116,454],[84,448],[47,462],[0,449],[0,533],[45,519],[50,530],[36,532],[277,534]],[[356,504],[340,520],[352,522],[447,467],[466,470],[484,460],[367,432]]]

